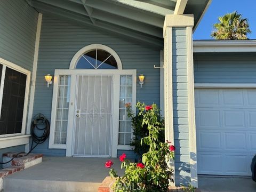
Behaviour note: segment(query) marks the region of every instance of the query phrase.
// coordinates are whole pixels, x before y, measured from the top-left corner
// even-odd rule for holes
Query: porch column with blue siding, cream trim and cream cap
[[[174,185],[197,187],[193,76],[193,15],[166,15],[164,22],[165,139],[174,143]]]

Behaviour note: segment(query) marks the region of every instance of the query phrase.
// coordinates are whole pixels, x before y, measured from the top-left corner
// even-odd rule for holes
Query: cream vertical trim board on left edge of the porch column
[[[172,94],[172,27],[167,27],[164,32],[164,114],[165,114],[165,140],[174,145],[173,129],[173,94]],[[175,163],[171,159],[169,165],[173,169],[171,183],[175,186]]]

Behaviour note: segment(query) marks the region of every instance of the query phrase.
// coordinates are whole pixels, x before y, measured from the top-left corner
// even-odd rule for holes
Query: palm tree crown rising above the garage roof
[[[247,19],[237,13],[227,13],[219,17],[219,22],[213,25],[215,30],[211,36],[215,39],[248,39],[247,34],[251,33]]]

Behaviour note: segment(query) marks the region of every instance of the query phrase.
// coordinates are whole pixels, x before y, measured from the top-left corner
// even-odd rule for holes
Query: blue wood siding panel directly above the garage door
[[[195,83],[256,83],[253,54],[194,54]]]

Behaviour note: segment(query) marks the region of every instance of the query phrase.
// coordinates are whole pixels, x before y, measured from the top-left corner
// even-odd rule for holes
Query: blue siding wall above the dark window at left
[[[38,13],[25,0],[0,1],[0,57],[32,70]]]

